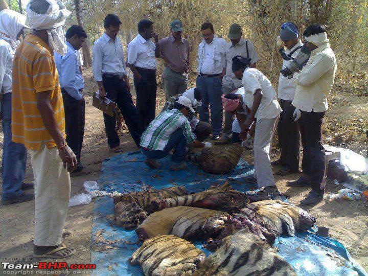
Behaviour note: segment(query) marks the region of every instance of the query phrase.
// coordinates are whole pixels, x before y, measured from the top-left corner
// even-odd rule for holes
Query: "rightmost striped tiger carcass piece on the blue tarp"
[[[249,211],[250,210],[250,211]],[[261,220],[281,234],[294,236],[295,231],[307,231],[316,218],[303,209],[281,200],[263,200],[248,204],[243,213],[257,213]]]

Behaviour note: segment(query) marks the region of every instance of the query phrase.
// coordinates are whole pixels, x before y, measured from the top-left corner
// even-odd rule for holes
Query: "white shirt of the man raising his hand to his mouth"
[[[156,45],[151,39],[144,39],[140,34],[128,44],[128,63],[135,67],[156,69]]]

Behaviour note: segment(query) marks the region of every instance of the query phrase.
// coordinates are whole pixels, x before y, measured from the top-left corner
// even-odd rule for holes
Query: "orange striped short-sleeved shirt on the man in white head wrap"
[[[56,147],[37,108],[37,93],[51,91],[50,104],[61,133],[65,135],[64,105],[53,51],[39,37],[29,34],[19,45],[13,63],[13,142],[39,150]]]

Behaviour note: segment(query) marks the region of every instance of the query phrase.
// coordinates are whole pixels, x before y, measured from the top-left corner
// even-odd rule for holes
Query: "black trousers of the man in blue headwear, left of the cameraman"
[[[279,100],[282,112],[278,124],[278,135],[280,145],[280,160],[285,166],[289,166],[292,172],[299,169],[301,135],[298,122],[294,122],[293,113],[295,107],[292,101]]]

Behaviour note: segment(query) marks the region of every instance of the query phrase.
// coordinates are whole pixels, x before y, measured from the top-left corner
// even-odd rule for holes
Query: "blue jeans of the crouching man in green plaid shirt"
[[[142,148],[142,153],[149,159],[161,159],[169,155],[170,150],[175,148],[173,155],[171,155],[171,162],[180,163],[186,154],[187,139],[179,128],[171,134],[170,139],[164,150],[148,150]]]

